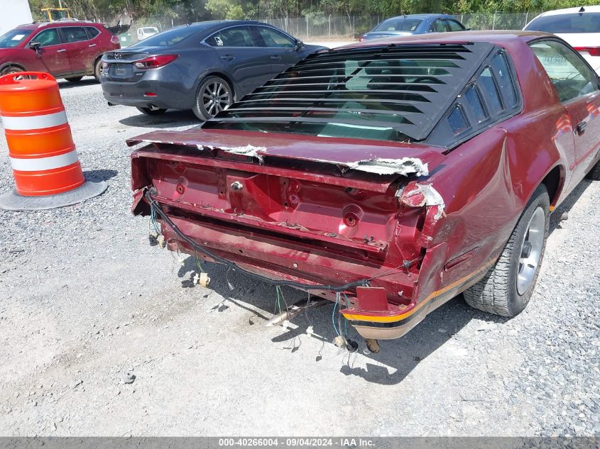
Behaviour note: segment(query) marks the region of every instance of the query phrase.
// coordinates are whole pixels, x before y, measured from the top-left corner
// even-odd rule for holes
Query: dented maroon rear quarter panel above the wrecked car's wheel
[[[569,181],[568,150],[557,123],[565,109],[533,52],[518,41],[508,48],[523,95],[523,111],[452,150],[443,167],[433,172],[430,183],[445,202],[446,217],[425,231],[430,245],[447,242],[447,265],[472,252],[471,257],[442,272],[442,286],[457,282],[496,260],[531,195],[559,167],[557,204],[566,195]],[[569,148],[572,148],[570,146]],[[482,277],[482,272],[479,277]]]

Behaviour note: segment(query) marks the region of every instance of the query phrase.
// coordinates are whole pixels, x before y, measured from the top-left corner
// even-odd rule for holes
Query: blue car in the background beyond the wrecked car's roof
[[[413,34],[465,31],[466,29],[456,18],[447,16],[446,14],[410,14],[410,16],[398,16],[386,19],[369,31],[369,33],[361,35],[359,41]]]

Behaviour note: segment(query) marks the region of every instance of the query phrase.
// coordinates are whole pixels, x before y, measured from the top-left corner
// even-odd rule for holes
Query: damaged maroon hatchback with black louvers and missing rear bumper
[[[137,143],[133,212],[160,241],[336,301],[373,343],[461,292],[525,308],[550,213],[600,177],[600,79],[545,33],[358,43]]]

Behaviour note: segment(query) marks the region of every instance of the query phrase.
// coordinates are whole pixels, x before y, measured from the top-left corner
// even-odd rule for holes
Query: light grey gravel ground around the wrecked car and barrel
[[[0,435],[600,434],[600,183],[558,209],[569,220],[552,226],[523,314],[457,297],[378,355],[362,342],[349,354],[331,343],[330,306],[266,328],[272,286],[234,274],[230,291],[207,265],[212,289],[190,287],[190,258],[148,245],[148,221],[129,214],[124,140],[195,126],[191,113],[109,107],[91,79],[61,94],[84,171],[109,188],[63,209],[0,211]]]

